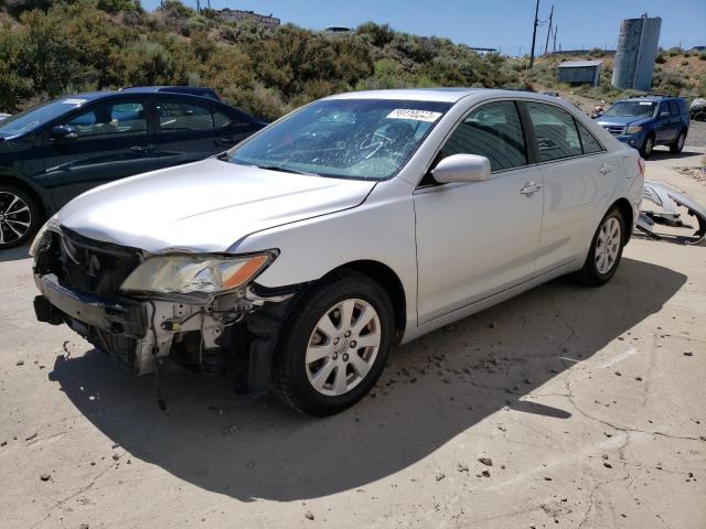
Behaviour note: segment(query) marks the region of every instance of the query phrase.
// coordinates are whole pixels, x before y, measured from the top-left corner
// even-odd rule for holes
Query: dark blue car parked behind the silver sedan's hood
[[[202,160],[265,125],[211,98],[149,88],[66,96],[7,118],[0,121],[0,249],[22,245],[96,185]]]

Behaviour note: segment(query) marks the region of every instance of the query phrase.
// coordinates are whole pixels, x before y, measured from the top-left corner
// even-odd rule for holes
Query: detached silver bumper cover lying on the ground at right
[[[695,201],[656,182],[645,182],[643,187],[643,198],[660,207],[657,210],[642,209],[638,217],[637,228],[654,239],[663,238],[663,235],[655,233],[655,225],[668,226],[672,228],[694,229],[685,224],[677,207],[683,207],[693,217],[697,226],[694,234],[685,238],[685,242],[691,245],[706,246],[706,207]]]

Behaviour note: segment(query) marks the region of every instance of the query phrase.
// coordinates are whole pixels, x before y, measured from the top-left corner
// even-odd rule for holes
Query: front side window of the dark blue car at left
[[[147,116],[142,102],[104,102],[90,107],[64,125],[73,127],[78,138],[145,134]]]

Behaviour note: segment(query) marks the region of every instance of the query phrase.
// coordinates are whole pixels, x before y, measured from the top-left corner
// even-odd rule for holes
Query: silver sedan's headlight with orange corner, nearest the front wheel
[[[249,256],[153,256],[128,276],[120,290],[211,298],[247,285],[276,257],[275,251]]]

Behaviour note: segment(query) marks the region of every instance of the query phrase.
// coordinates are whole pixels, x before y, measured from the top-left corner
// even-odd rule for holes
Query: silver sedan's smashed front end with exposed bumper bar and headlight
[[[277,257],[146,255],[47,223],[31,250],[39,321],[68,324],[137,375],[169,357],[205,375],[226,369],[264,391],[279,327],[296,289],[253,280]]]

